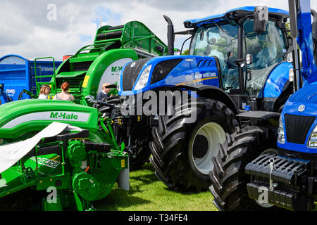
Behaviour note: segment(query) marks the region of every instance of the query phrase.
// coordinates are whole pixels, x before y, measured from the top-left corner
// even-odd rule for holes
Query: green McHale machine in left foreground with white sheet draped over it
[[[0,210],[94,210],[118,181],[128,153],[96,108],[24,100],[0,107]]]

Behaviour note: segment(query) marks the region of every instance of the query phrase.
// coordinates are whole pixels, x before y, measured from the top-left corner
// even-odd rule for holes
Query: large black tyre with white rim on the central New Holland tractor
[[[232,134],[238,123],[225,104],[213,99],[197,98],[197,106],[188,105],[188,109],[197,113],[194,122],[183,112],[159,117],[159,126],[152,129],[151,163],[169,188],[204,191],[211,184],[211,157],[217,155],[225,133]]]

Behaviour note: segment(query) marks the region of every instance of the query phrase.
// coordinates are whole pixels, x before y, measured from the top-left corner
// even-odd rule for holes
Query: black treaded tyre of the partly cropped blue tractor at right
[[[249,175],[245,166],[259,157],[267,149],[276,148],[276,139],[268,129],[261,127],[244,127],[230,135],[220,144],[220,151],[212,158],[213,171],[209,173],[210,191],[213,204],[221,211],[259,211],[274,210],[277,207],[261,207],[249,198],[247,183]]]

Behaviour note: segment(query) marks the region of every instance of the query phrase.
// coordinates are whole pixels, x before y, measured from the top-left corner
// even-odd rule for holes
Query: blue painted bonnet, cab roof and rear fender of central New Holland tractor
[[[242,11],[249,11],[254,12],[255,7],[242,7],[242,8],[235,8],[232,9],[226,13],[230,13],[232,11],[242,10]],[[281,15],[281,17],[288,17],[288,12],[283,11],[277,8],[268,8],[269,13],[275,13]],[[202,25],[203,23],[211,23],[211,20],[213,22],[217,22],[218,20],[225,19],[225,14],[220,15],[213,15],[207,18],[201,18],[197,20],[187,20],[187,22],[196,23],[196,25]],[[165,79],[163,79],[160,82],[157,82],[156,84],[150,84],[151,81],[151,73],[153,72],[155,66],[158,63],[161,63],[163,60],[173,60],[176,58],[182,58],[182,62],[176,66],[169,75],[166,76]],[[197,63],[199,60],[213,60],[213,63],[209,65],[209,67],[206,68],[197,68]],[[192,60],[191,62],[187,62],[186,60]],[[123,90],[123,79],[120,79],[120,91],[119,94],[121,96],[130,96],[135,95],[138,93],[142,93],[144,91],[149,91],[153,89],[157,89],[163,86],[175,86],[180,84],[190,84],[190,79],[197,80],[200,77],[204,76],[206,73],[212,73],[214,74],[215,79],[206,79],[198,82],[194,82],[194,84],[204,84],[204,85],[211,85],[211,86],[217,86],[220,87],[220,82],[218,78],[218,71],[216,69],[216,62],[213,57],[203,57],[203,56],[163,56],[159,58],[152,58],[149,60],[142,68],[142,70],[139,72],[139,77],[142,75],[142,72],[144,71],[147,66],[152,65],[151,72],[149,76],[149,81],[147,86],[144,87],[142,90],[134,90],[134,88],[130,91],[122,91]],[[126,65],[125,65],[126,66]],[[121,76],[123,76],[123,72],[125,70],[125,66],[123,66],[123,70],[121,72]],[[289,70],[292,68],[292,65],[289,63],[281,63],[276,68],[274,68],[270,75],[268,75],[267,78],[267,84],[263,86],[263,89],[259,95],[259,98],[278,98],[280,94],[282,94],[282,90],[285,87],[285,84],[288,80],[288,74]],[[138,79],[139,79],[138,77]],[[216,78],[217,77],[217,78]],[[204,78],[204,77],[201,77]],[[137,84],[137,81],[135,82],[135,85]]]

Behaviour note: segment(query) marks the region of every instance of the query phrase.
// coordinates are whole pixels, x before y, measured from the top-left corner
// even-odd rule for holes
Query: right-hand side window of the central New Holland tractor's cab
[[[266,31],[262,34],[254,32],[254,21],[244,22],[244,37],[247,43],[247,54],[253,56],[251,69],[251,80],[247,81],[246,91],[250,96],[259,96],[266,79],[278,63],[284,60],[287,52],[282,30],[273,22],[268,21]],[[245,46],[243,48],[244,56]]]

